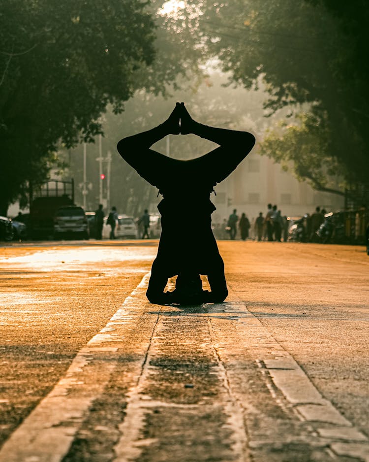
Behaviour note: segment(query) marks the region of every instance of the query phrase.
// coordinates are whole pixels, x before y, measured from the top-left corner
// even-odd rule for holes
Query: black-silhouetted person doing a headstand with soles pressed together
[[[219,147],[188,161],[150,149],[164,136],[179,133],[193,133]],[[254,143],[251,133],[195,122],[183,103],[177,103],[169,118],[158,127],[118,143],[123,159],[163,196],[157,206],[162,232],[146,293],[152,303],[221,302],[227,297],[224,263],[211,228],[215,206],[210,193],[246,157]],[[196,233],[191,236],[178,226],[184,215],[191,216],[196,223]],[[211,292],[202,290],[200,274],[208,276]],[[178,275],[176,289],[164,293],[168,278],[175,275]]]

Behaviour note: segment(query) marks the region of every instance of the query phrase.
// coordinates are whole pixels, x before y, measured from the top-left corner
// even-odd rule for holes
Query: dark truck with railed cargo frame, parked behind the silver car
[[[58,208],[74,204],[74,181],[49,180],[30,193],[28,234],[31,239],[54,235],[54,215]]]

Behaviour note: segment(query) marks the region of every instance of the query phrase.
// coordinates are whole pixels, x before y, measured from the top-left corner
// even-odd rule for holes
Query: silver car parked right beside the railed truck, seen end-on
[[[89,238],[89,224],[82,207],[69,205],[60,207],[54,215],[54,238]]]

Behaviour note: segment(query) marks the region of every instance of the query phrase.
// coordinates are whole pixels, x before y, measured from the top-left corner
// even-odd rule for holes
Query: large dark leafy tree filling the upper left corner
[[[137,88],[154,58],[139,0],[8,0],[0,14],[0,214],[45,179],[59,141],[101,132],[98,117]]]

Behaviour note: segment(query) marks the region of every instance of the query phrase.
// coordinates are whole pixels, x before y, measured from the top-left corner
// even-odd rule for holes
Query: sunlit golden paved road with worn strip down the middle
[[[226,302],[180,307],[156,246],[0,248],[0,462],[369,461],[365,249],[220,241]]]

